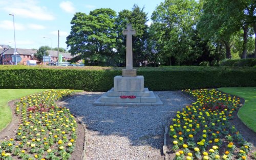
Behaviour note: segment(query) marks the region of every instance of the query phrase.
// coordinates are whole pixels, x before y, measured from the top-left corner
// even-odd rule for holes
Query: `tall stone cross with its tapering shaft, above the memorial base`
[[[123,35],[126,35],[126,69],[133,69],[132,35],[135,35],[135,30],[132,30],[132,24],[127,24],[127,29],[123,30]]]

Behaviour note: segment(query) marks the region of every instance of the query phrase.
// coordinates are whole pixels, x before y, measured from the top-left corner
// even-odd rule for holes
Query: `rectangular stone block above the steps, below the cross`
[[[136,77],[114,77],[115,92],[142,92],[144,90],[144,76]]]

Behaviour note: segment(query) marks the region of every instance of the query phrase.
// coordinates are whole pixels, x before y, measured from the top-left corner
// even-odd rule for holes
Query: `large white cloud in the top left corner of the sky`
[[[38,20],[54,20],[46,7],[39,6],[35,0],[13,0],[0,7],[15,16],[33,18]]]

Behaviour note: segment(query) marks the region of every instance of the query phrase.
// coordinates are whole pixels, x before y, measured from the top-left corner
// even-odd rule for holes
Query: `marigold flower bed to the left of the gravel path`
[[[75,147],[76,121],[55,101],[73,90],[46,91],[15,103],[20,124],[15,137],[0,143],[0,159],[68,159]]]

